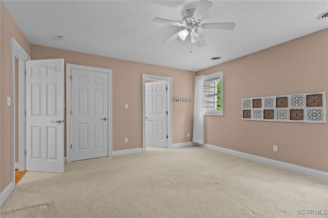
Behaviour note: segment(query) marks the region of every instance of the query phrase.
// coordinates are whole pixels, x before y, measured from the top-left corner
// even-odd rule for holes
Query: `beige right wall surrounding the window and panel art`
[[[219,70],[224,71],[224,116],[206,116],[206,143],[328,171],[327,123],[241,120],[241,98],[318,91],[325,91],[327,98],[328,29],[196,75]],[[278,145],[278,152],[273,145]]]

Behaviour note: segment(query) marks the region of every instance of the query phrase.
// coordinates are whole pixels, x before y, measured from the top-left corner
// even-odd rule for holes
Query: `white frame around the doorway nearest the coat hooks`
[[[150,74],[142,74],[142,152],[146,151],[146,80],[162,80],[167,81],[168,84],[168,96],[167,96],[167,108],[168,108],[168,148],[172,148],[172,77],[157,76]]]

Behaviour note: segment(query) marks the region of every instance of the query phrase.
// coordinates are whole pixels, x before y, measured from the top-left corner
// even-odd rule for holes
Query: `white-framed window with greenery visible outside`
[[[223,71],[204,76],[204,115],[223,116]]]

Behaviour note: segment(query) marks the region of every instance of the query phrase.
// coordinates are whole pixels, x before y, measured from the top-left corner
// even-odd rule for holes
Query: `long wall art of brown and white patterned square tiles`
[[[241,99],[241,119],[283,122],[326,122],[326,93],[301,93]]]

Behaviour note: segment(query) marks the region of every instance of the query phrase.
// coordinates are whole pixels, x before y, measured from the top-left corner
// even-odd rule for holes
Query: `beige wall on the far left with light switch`
[[[1,4],[1,145],[0,145],[0,189],[11,182],[11,106],[7,106],[7,96],[11,96],[11,37],[30,54],[30,43],[19,30],[7,9]],[[12,102],[14,104],[14,102]]]

